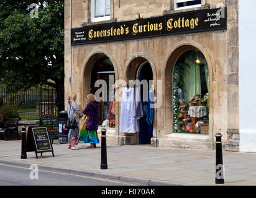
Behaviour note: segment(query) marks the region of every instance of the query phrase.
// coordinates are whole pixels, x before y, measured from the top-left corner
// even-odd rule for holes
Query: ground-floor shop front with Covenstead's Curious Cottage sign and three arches
[[[77,92],[81,106],[99,93],[109,144],[213,149],[230,122],[227,19],[217,11],[71,28],[75,72],[66,69],[74,80],[65,92]],[[140,104],[119,100],[124,94]]]

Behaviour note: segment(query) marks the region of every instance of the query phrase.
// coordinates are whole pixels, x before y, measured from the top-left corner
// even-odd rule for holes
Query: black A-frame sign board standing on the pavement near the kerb
[[[43,152],[52,152],[53,147],[52,142],[50,141],[47,126],[30,126],[27,133],[27,152],[35,152],[36,157],[37,153]]]

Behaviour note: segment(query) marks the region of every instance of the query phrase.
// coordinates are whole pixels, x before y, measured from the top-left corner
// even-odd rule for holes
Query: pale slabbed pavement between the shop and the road
[[[215,151],[161,149],[150,145],[107,145],[107,166],[101,170],[101,145],[80,150],[67,149],[67,144],[53,143],[51,152],[35,158],[28,152],[21,159],[21,140],[0,140],[0,164],[40,170],[79,174],[94,178],[114,179],[139,185],[236,186],[256,185],[256,153],[223,152],[225,184],[215,184]]]

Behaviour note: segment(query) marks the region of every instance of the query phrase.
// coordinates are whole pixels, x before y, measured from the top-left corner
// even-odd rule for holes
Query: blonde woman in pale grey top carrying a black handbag
[[[76,129],[70,129],[68,132],[68,149],[79,150],[79,148],[75,147],[75,145],[78,145],[78,136],[80,131],[79,119],[83,117],[83,114],[81,113],[79,106],[76,104],[76,93],[71,93],[71,95],[68,97],[67,106],[68,118],[70,120],[75,119],[77,124]]]

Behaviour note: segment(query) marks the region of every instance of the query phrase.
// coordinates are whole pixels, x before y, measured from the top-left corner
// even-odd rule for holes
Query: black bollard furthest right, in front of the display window
[[[215,135],[216,137],[216,174],[215,174],[215,183],[224,184],[224,166],[222,160],[222,142],[220,133]]]

